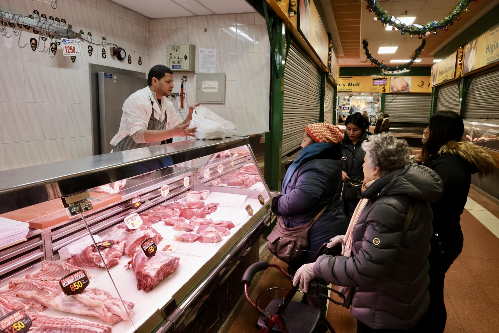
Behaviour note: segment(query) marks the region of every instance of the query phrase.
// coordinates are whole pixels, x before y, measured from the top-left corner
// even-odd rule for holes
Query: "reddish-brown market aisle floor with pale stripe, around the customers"
[[[464,248],[451,266],[445,281],[447,307],[446,333],[499,332],[499,205],[470,190],[466,209],[461,216]],[[287,267],[277,258],[272,263]],[[290,282],[275,269],[268,269],[251,293],[256,296],[270,287],[289,287]],[[258,299],[266,305],[282,297],[283,291],[272,290]],[[245,304],[228,332],[255,333],[257,314]],[[337,333],[356,332],[350,311],[329,304],[327,319]]]

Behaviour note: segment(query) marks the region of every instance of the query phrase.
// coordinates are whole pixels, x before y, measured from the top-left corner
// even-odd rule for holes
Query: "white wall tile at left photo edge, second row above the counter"
[[[0,103],[3,143],[28,141],[28,116],[25,103]]]

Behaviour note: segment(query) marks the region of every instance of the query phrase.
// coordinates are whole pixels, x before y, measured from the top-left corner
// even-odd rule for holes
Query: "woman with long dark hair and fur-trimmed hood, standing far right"
[[[461,142],[463,120],[453,111],[434,114],[428,131],[422,150],[423,163],[440,175],[444,194],[432,204],[433,236],[428,257],[430,307],[414,332],[442,333],[447,322],[445,273],[463,249],[460,216],[468,199],[471,176],[477,172],[482,177],[492,174],[496,164],[485,149],[471,142]]]

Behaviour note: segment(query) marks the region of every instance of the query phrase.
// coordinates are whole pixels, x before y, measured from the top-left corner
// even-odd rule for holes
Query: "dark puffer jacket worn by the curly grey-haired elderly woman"
[[[442,180],[426,166],[384,175],[363,193],[371,199],[353,228],[352,256],[315,262],[317,278],[356,287],[351,313],[367,326],[407,330],[426,312],[433,215],[428,200],[438,200],[442,191]],[[411,202],[416,211],[403,233]]]

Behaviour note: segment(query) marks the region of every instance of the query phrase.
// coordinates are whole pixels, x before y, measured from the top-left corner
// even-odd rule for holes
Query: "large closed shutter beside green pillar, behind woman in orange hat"
[[[291,43],[284,69],[282,156],[298,148],[305,126],[319,121],[320,74],[296,42]]]

